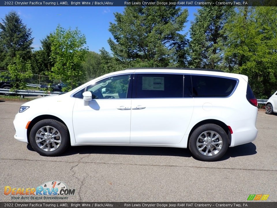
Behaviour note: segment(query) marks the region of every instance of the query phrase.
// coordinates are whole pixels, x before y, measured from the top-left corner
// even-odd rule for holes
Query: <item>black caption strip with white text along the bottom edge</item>
[[[277,202],[0,202],[0,208],[12,207],[111,207],[111,208],[222,208],[222,207],[247,207],[247,208],[276,208]]]

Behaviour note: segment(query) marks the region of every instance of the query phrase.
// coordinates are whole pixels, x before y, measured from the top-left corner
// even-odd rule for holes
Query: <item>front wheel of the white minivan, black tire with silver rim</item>
[[[47,127],[48,127],[48,130],[46,130]],[[42,129],[44,131],[41,131],[40,129]],[[56,129],[57,131],[55,131],[54,129]],[[46,142],[47,139],[43,139],[43,137],[46,135],[45,130],[51,134],[55,133],[54,135],[57,135],[57,136],[54,136],[53,140],[51,139],[51,141],[48,141],[49,143]],[[38,132],[40,132],[40,133],[38,133]],[[58,133],[60,134],[60,136],[58,136],[59,135]],[[38,137],[36,135],[40,135],[41,137]],[[51,136],[48,137],[49,138],[48,140],[50,140],[50,137]],[[41,140],[42,142],[39,142],[37,144],[36,139],[39,140],[40,138],[42,138],[42,140]],[[53,141],[56,141],[56,142],[53,142]],[[57,142],[59,142],[59,143],[57,143]],[[33,149],[42,156],[50,156],[50,157],[58,156],[61,153],[63,153],[70,146],[70,137],[69,137],[68,128],[63,123],[61,123],[57,120],[53,120],[53,119],[41,120],[41,121],[37,122],[31,129],[30,143],[31,143],[31,146],[33,147]],[[47,144],[45,144],[45,143],[47,143]],[[45,146],[43,147],[44,144],[45,144]],[[48,151],[43,150],[42,148],[48,149]]]

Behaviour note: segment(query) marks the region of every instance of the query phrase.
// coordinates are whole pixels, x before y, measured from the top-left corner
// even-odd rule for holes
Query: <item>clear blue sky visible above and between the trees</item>
[[[199,7],[187,8],[188,23],[182,33],[188,32],[190,21],[194,19],[193,14]],[[108,38],[112,38],[108,31],[109,22],[114,22],[113,13],[122,13],[124,7],[1,7],[0,18],[4,19],[5,14],[11,10],[18,12],[23,23],[32,29],[32,37],[34,37],[32,47],[35,50],[41,46],[40,40],[55,31],[57,25],[60,24],[66,29],[78,27],[87,38],[89,50],[99,53],[102,47],[111,52],[107,43]],[[0,21],[2,22],[1,19]]]

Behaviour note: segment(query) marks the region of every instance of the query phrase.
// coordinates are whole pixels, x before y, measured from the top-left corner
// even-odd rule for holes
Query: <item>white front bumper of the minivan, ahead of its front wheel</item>
[[[24,116],[24,112],[17,113],[15,115],[13,123],[14,123],[14,129],[15,129],[14,138],[20,142],[28,143],[27,129],[26,129],[28,119],[26,119],[26,116]]]

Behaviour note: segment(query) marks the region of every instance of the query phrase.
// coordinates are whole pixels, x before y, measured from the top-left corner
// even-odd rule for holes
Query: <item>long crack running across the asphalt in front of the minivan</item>
[[[85,156],[88,157],[88,156]],[[81,159],[85,158],[82,157]],[[3,160],[20,160],[20,161],[42,161],[42,162],[57,162],[57,163],[76,163],[76,161],[68,162],[68,161],[48,161],[48,160],[31,160],[31,159],[9,159],[9,158],[0,158]],[[159,164],[132,164],[132,163],[108,163],[108,162],[81,162],[79,159],[78,164],[74,165],[70,170],[74,172],[73,168],[78,166],[79,164],[110,164],[110,165],[132,165],[132,166],[157,166],[157,167],[180,167],[180,168],[204,168],[204,169],[219,169],[219,170],[250,170],[250,171],[274,171],[270,169],[250,169],[250,168],[218,168],[218,167],[203,167],[203,166],[179,166],[179,165],[159,165]],[[76,177],[76,176],[74,176]],[[79,179],[78,177],[76,177]]]

